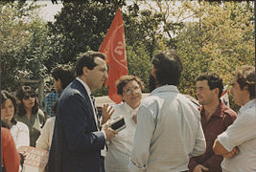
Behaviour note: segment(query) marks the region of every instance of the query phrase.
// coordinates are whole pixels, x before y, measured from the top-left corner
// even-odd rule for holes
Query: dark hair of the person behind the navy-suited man
[[[60,79],[62,90],[75,79],[75,71],[70,65],[58,65],[53,69],[52,75],[55,80]]]

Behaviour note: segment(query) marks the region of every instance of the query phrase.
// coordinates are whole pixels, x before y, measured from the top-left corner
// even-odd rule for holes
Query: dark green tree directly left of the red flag
[[[98,51],[115,12],[123,5],[123,2],[64,2],[55,16],[56,22],[48,23],[53,47],[48,65],[74,62],[77,54]]]

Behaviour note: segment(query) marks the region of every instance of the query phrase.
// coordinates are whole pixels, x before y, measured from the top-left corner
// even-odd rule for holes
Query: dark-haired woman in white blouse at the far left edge
[[[16,121],[14,115],[17,112],[16,100],[7,91],[1,91],[1,118],[11,124],[12,138],[16,148],[30,145],[30,133],[26,124]]]

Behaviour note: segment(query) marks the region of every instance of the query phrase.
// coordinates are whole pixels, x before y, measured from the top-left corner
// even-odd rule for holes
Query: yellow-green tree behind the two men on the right
[[[195,97],[198,74],[215,72],[229,84],[238,66],[255,63],[253,2],[183,5],[198,21],[186,24],[176,37],[184,64],[180,90]],[[238,109],[233,102],[231,107]]]

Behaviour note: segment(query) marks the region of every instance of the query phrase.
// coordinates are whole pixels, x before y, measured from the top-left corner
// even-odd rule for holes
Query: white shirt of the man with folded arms
[[[238,112],[238,118],[218,136],[221,145],[231,151],[239,147],[239,154],[224,159],[221,167],[230,172],[256,171],[256,101],[248,101]]]

